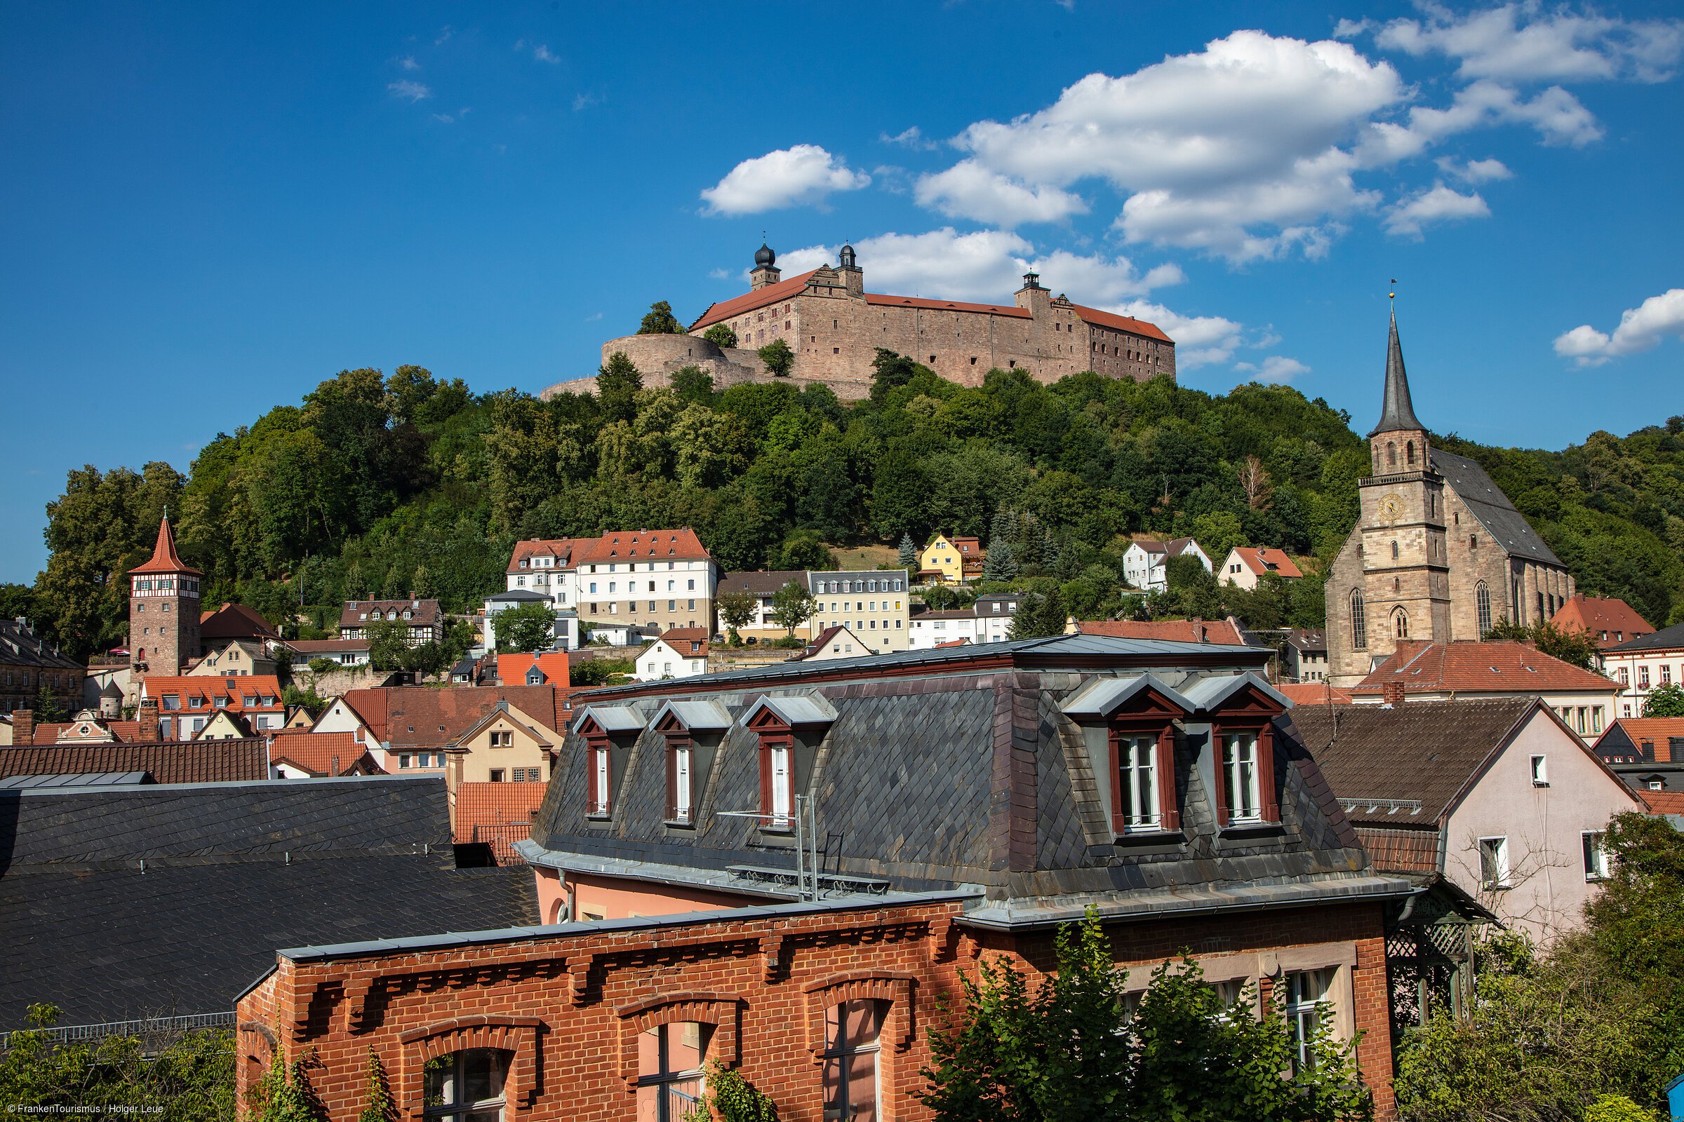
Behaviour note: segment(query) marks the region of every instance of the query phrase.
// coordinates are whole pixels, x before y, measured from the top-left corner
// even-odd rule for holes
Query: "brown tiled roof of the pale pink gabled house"
[[[1305,705],[1293,708],[1282,727],[1315,757],[1339,799],[1421,804],[1416,814],[1356,806],[1346,811],[1351,821],[1436,826],[1468,779],[1541,707],[1531,696],[1398,707]]]

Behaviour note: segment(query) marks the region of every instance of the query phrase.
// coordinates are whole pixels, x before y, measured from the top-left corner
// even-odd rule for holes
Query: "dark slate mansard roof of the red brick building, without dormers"
[[[1224,653],[1223,668],[1179,666],[1212,651]],[[1002,668],[1002,653],[1044,663]],[[1118,844],[1090,755],[1088,737],[1103,742],[1103,725],[1061,705],[1090,681],[1137,676],[1128,658],[1152,659],[1165,688],[1214,701],[1224,690],[1199,685],[1201,676],[1226,683],[1236,669],[1258,669],[1266,651],[1064,636],[593,691],[589,700],[642,717],[618,722],[625,732],[611,738],[623,754],[615,812],[606,826],[584,816],[578,725],[591,710],[581,710],[522,853],[537,865],[645,863],[699,878],[733,865],[793,866],[788,839],[724,814],[759,804],[759,744],[748,722],[768,707],[795,728],[797,782],[813,792],[827,873],[884,878],[894,892],[985,885],[990,907],[1004,908],[989,922],[1051,922],[1059,908],[1079,915],[1090,898],[1101,908],[1261,907],[1388,890],[1315,764],[1287,737],[1276,747],[1282,829],[1218,839],[1202,770],[1192,765],[1209,750],[1207,732],[1189,725],[1175,767],[1184,839]],[[909,673],[894,675],[896,666]],[[697,826],[674,831],[663,821],[665,738],[653,715],[697,695],[733,723],[722,733],[692,732],[694,750],[707,754],[695,769]]]

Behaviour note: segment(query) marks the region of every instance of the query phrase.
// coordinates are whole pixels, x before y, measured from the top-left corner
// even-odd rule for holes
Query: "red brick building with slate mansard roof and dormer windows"
[[[1325,1003],[1389,1117],[1386,908],[1416,890],[1374,875],[1266,659],[1059,636],[574,698],[517,844],[549,925],[281,950],[239,998],[241,1092],[308,1048],[354,1115],[372,1048],[406,1119],[657,1119],[719,1060],[790,1122],[928,1119],[958,974],[1046,969],[1091,905],[1130,989],[1191,949]]]

